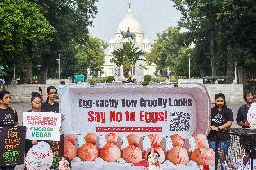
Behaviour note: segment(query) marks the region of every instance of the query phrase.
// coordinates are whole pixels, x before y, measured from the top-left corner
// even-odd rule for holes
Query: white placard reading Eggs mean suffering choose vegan
[[[26,139],[60,141],[61,114],[55,112],[23,112]]]

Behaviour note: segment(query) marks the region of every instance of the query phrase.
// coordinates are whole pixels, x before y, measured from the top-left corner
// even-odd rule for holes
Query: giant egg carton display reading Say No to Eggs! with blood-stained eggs
[[[60,101],[64,157],[74,169],[139,170],[154,153],[162,170],[215,164],[206,139],[211,107],[203,85],[67,85]],[[187,151],[197,141],[206,152],[190,160]],[[201,161],[206,155],[207,162]]]

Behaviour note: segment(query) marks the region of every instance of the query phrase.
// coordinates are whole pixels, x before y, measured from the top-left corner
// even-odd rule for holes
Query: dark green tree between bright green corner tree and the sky
[[[41,46],[41,82],[48,76],[56,77],[57,61],[62,66],[69,66],[70,60],[75,60],[74,43],[83,44],[88,40],[88,27],[92,25],[92,18],[97,13],[94,5],[96,0],[31,0],[39,4],[41,13],[56,29],[56,33],[46,46]],[[72,62],[74,64],[74,62]],[[69,76],[69,67],[62,67],[64,76]]]

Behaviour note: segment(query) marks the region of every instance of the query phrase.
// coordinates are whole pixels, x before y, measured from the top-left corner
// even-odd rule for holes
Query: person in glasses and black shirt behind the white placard
[[[59,113],[59,103],[55,102],[57,89],[54,86],[47,87],[47,99],[41,104],[41,112]]]

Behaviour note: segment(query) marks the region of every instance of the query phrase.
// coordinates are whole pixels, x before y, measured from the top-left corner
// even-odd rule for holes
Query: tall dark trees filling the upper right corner
[[[251,58],[255,58],[256,54],[256,31],[253,29],[256,26],[254,0],[173,2],[182,13],[178,25],[189,30],[196,44],[197,60],[211,67],[212,76],[227,76],[228,82],[231,82],[234,62],[246,69],[247,76],[253,75],[255,59]],[[245,65],[246,62],[251,64]],[[201,68],[207,72],[206,66]]]

